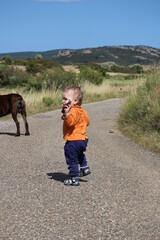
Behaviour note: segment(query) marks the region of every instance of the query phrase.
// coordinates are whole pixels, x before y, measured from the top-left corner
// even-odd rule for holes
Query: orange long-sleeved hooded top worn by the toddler
[[[81,106],[72,106],[67,117],[62,116],[63,137],[65,140],[87,139],[86,127],[90,124],[87,111]]]

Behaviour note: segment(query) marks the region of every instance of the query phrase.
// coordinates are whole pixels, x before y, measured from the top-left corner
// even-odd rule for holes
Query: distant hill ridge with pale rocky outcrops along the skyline
[[[57,49],[43,52],[3,53],[15,59],[35,58],[40,54],[44,59],[53,59],[60,64],[87,62],[115,62],[119,65],[153,64],[160,62],[160,49],[149,46],[104,46],[84,49]]]

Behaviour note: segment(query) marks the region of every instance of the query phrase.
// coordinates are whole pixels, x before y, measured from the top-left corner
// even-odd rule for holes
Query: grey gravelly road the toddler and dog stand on
[[[64,186],[60,110],[0,122],[1,240],[159,240],[160,156],[116,127],[121,99],[84,104],[92,174]]]

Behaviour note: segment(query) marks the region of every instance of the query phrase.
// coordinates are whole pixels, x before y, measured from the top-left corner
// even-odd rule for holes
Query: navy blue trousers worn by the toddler
[[[87,166],[87,160],[84,152],[86,151],[88,139],[67,141],[64,146],[64,154],[68,165],[69,176],[78,177],[79,168]]]

